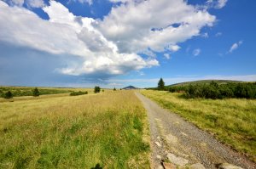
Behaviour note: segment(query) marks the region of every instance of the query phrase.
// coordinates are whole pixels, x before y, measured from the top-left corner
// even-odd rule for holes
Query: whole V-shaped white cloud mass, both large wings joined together
[[[32,7],[44,6],[27,2],[34,2]],[[61,3],[50,1],[43,8],[49,20],[42,20],[26,8],[9,7],[0,1],[0,39],[83,60],[59,68],[63,74],[113,76],[159,65],[154,52],[176,52],[178,43],[200,36],[201,28],[215,21],[207,10],[183,0],[112,2],[122,3],[103,20],[94,20],[75,16]]]

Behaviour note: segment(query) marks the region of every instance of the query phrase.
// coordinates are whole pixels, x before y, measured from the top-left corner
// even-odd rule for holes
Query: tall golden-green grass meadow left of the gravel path
[[[0,103],[0,136],[0,168],[149,168],[146,114],[132,91]]]

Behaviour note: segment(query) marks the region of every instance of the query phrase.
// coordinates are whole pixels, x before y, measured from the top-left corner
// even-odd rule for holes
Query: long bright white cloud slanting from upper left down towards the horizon
[[[101,72],[111,76],[158,65],[156,59],[143,59],[135,53],[119,53],[113,42],[91,26],[95,20],[74,16],[61,3],[51,1],[50,6],[44,8],[49,14],[49,21],[41,20],[25,8],[10,8],[3,2],[0,2],[0,8],[2,41],[84,59],[83,63],[73,63],[59,69],[64,74]]]

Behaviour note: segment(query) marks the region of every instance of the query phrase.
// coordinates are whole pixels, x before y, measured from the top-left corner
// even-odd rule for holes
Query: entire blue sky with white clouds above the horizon
[[[0,85],[256,81],[253,0],[0,1]]]

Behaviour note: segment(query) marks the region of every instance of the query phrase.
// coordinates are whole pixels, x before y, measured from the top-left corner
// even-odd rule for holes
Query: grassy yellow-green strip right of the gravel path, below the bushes
[[[255,99],[183,99],[181,93],[141,93],[256,161]]]

